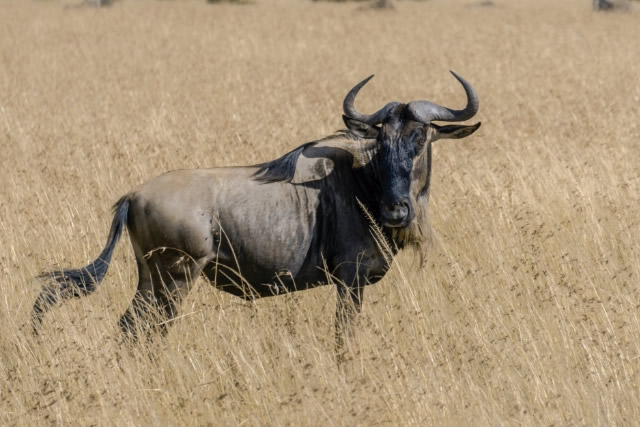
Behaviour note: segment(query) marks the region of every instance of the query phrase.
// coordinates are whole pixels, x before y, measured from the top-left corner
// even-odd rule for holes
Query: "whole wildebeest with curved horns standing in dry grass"
[[[354,101],[370,76],[344,99],[344,131],[267,163],[176,170],[133,189],[115,204],[106,246],[95,261],[44,274],[55,280],[34,304],[34,327],[56,302],[96,289],[126,227],[139,280],[120,319],[128,336],[158,325],[164,330],[204,275],[248,300],[335,284],[340,345],[360,311],[364,286],[389,268],[372,225],[392,255],[419,248],[430,227],[431,144],[469,136],[480,126],[434,123],[465,121],[478,111],[474,89],[452,74],[466,92],[462,110],[413,101],[362,114]]]

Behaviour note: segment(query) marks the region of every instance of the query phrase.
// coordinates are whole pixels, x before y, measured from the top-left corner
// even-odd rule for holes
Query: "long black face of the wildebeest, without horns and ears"
[[[411,184],[426,180],[429,165],[428,125],[390,115],[377,137],[378,175],[381,185],[380,219],[386,227],[406,227],[415,217]]]

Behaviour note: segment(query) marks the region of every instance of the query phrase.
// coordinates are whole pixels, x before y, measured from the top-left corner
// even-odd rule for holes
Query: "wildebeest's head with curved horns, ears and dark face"
[[[390,102],[366,115],[354,107],[356,95],[373,77],[358,83],[344,100],[343,119],[349,131],[361,138],[375,139],[373,162],[379,184],[380,222],[396,231],[407,228],[416,217],[416,207],[428,197],[431,175],[431,143],[440,138],[464,138],[480,127],[436,125],[434,121],[461,122],[473,117],[479,106],[471,85],[452,72],[464,87],[467,106],[452,110],[430,101],[408,104]]]

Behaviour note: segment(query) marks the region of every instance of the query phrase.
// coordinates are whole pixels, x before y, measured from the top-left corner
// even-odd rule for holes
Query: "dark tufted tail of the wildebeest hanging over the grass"
[[[42,317],[58,302],[72,297],[89,295],[96,290],[109,269],[109,262],[113,251],[122,236],[122,230],[127,224],[129,214],[129,197],[124,196],[113,207],[114,215],[109,230],[109,237],[104,249],[95,261],[89,265],[68,270],[49,271],[38,277],[48,279],[53,284],[45,285],[33,305],[32,321],[37,331],[42,323]]]

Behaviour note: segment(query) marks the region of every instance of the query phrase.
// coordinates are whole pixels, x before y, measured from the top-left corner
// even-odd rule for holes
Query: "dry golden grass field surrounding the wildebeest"
[[[0,425],[640,422],[640,13],[495,3],[4,0]],[[246,303],[199,280],[165,338],[127,345],[126,236],[31,333],[35,276],[93,260],[136,185],[332,134],[373,73],[361,111],[462,108],[449,70],[482,127],[435,143],[424,265],[367,287],[341,364],[333,287]]]

